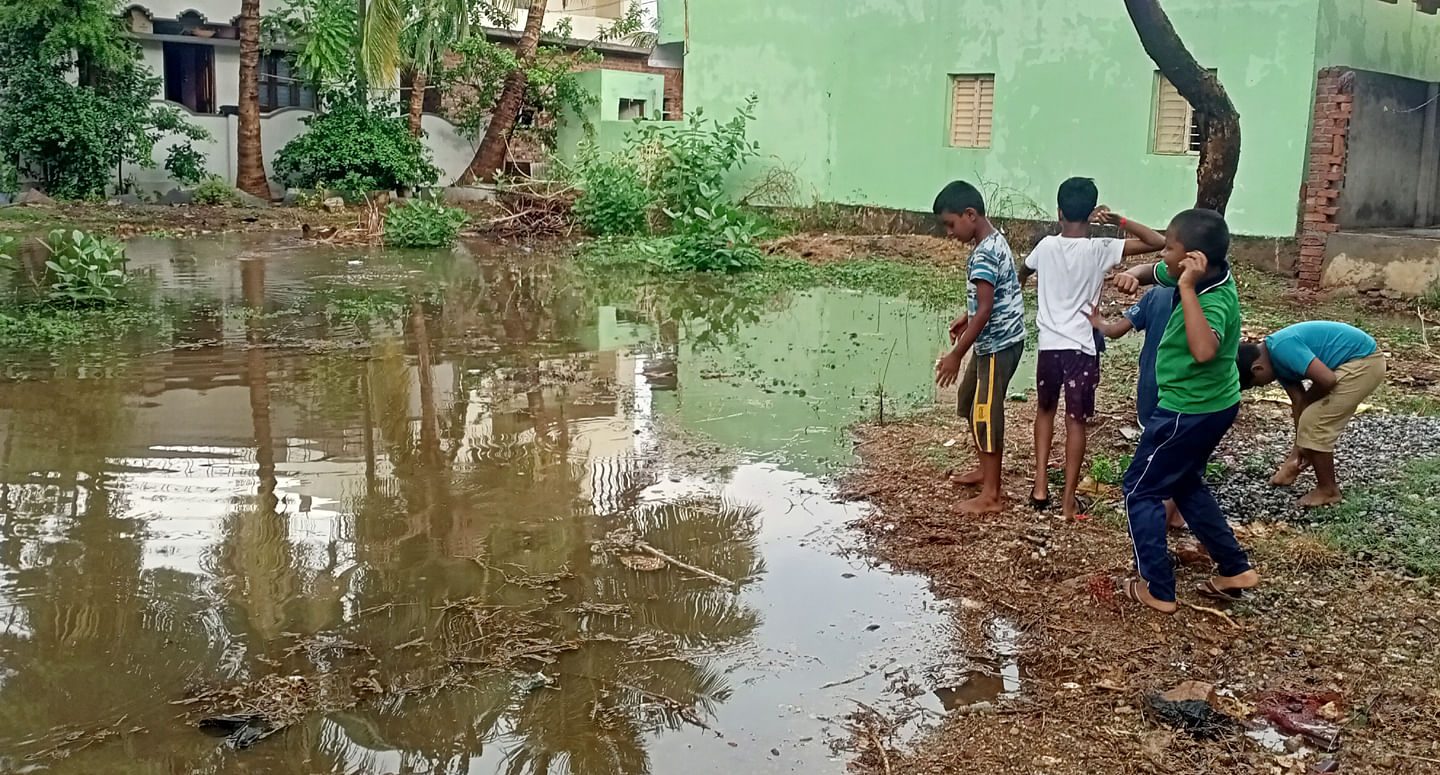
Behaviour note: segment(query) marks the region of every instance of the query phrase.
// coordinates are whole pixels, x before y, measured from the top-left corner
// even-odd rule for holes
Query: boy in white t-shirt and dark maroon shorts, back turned
[[[1165,248],[1165,238],[1148,226],[1123,219],[1109,207],[1096,207],[1100,192],[1089,177],[1060,184],[1060,236],[1047,236],[1025,259],[1021,279],[1040,275],[1040,363],[1035,369],[1035,487],[1031,506],[1050,506],[1050,448],[1056,435],[1060,393],[1066,398],[1066,496],[1063,513],[1080,509],[1076,488],[1084,464],[1086,424],[1094,416],[1094,390],[1100,385],[1099,337],[1090,311],[1100,301],[1104,275],[1130,255]],[[1129,239],[1092,238],[1090,222],[1112,223]]]

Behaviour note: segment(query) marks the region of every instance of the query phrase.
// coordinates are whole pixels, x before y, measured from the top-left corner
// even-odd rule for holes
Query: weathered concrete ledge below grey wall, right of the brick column
[[[1440,281],[1440,233],[1336,232],[1325,246],[1320,285],[1418,297]]]

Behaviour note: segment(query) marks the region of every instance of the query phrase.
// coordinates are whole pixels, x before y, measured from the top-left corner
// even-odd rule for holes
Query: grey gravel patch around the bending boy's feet
[[[1293,442],[1290,429],[1241,431],[1233,431],[1215,454],[1227,471],[1211,481],[1211,490],[1225,516],[1238,523],[1318,521],[1318,513],[1295,504],[1315,487],[1313,474],[1300,475],[1295,487],[1270,487],[1270,477]],[[1336,477],[1341,487],[1352,490],[1385,481],[1407,462],[1428,457],[1440,457],[1440,418],[1364,413],[1351,421],[1335,449]]]

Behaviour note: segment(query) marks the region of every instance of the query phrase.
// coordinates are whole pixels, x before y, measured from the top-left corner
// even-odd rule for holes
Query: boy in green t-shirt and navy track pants
[[[1220,213],[1185,210],[1165,230],[1161,264],[1115,278],[1116,288],[1129,294],[1151,284],[1175,288],[1155,359],[1159,406],[1125,472],[1125,510],[1140,578],[1125,582],[1123,591],[1162,614],[1175,612],[1166,498],[1218,566],[1218,576],[1198,588],[1201,595],[1234,599],[1260,582],[1205,485],[1205,464],[1240,412],[1240,295],[1228,252],[1230,228]]]

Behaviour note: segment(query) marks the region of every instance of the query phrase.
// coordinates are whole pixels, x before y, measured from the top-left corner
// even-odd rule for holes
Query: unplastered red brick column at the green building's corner
[[[1339,229],[1335,213],[1345,186],[1346,138],[1355,109],[1352,84],[1349,71],[1328,68],[1320,71],[1315,89],[1310,167],[1300,215],[1300,285],[1306,288],[1319,287],[1325,245]]]

